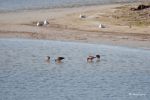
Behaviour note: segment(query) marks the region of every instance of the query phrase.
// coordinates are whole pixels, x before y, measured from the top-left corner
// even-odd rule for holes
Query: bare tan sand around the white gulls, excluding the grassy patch
[[[0,38],[30,38],[79,41],[150,48],[150,26],[132,28],[116,24],[109,16],[116,7],[127,4],[85,6],[0,13]],[[86,18],[80,19],[84,14]],[[37,27],[47,19],[49,25]],[[105,28],[99,28],[103,24]]]

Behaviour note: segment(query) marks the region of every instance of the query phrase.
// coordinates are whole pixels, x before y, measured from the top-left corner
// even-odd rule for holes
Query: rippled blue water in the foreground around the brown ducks
[[[101,54],[100,62],[86,62],[96,54]],[[65,57],[63,63],[55,63],[58,56]],[[150,51],[0,40],[0,100],[149,100],[149,85]]]

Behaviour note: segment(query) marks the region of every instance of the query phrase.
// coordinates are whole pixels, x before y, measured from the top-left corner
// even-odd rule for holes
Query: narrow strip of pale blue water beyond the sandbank
[[[20,9],[38,9],[54,7],[72,7],[116,2],[133,2],[136,0],[0,0],[0,11]]]

